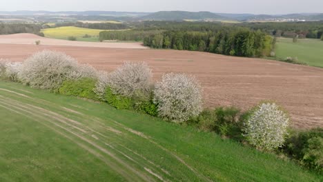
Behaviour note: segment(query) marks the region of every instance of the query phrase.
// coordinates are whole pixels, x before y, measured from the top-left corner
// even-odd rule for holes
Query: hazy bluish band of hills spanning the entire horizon
[[[323,13],[295,14],[234,14],[216,12],[115,12],[115,11],[0,11],[1,19],[8,21],[73,21],[73,20],[117,20],[117,21],[323,21]],[[5,16],[5,17],[4,17]],[[28,16],[28,17],[27,17]],[[11,20],[10,20],[11,19]]]

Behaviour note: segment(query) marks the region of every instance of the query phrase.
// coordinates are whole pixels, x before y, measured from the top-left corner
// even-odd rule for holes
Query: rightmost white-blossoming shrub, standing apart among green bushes
[[[281,147],[287,134],[289,118],[275,103],[262,103],[244,123],[244,136],[258,149]]]

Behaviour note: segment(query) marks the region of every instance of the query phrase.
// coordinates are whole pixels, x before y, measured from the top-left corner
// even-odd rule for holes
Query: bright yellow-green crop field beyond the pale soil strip
[[[45,34],[45,37],[48,38],[68,40],[68,37],[76,37],[77,41],[99,41],[99,32],[101,31],[106,30],[78,28],[74,26],[46,28],[41,30],[41,32]],[[84,38],[86,34],[90,35],[91,37]]]

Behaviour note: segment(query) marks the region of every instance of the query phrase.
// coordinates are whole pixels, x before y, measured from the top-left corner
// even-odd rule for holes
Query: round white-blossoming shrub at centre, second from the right
[[[180,123],[202,112],[202,88],[195,77],[164,74],[154,94],[159,117]]]

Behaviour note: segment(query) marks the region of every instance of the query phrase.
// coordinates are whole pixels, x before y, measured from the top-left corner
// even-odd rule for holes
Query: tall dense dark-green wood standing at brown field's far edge
[[[166,31],[144,39],[144,45],[151,48],[197,50],[238,57],[268,56],[274,43],[271,36],[248,28],[216,32]]]

